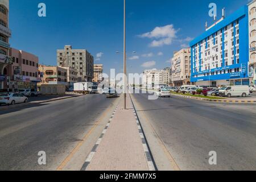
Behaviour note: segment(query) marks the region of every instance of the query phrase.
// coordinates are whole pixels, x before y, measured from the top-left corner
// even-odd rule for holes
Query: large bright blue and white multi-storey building
[[[196,85],[249,85],[248,6],[225,18],[192,40],[191,82]],[[174,79],[174,78],[173,78]]]

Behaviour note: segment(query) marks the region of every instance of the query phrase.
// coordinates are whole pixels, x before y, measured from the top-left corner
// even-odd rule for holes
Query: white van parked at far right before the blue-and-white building
[[[246,97],[250,96],[250,90],[247,85],[224,86],[218,91],[218,94],[223,97]]]

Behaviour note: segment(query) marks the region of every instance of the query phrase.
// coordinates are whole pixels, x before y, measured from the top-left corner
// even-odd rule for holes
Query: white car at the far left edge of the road
[[[0,104],[14,105],[18,103],[26,103],[28,98],[19,93],[0,94]]]

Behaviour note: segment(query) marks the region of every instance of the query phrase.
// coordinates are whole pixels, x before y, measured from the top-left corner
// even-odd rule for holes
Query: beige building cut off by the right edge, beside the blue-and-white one
[[[256,1],[251,1],[249,10],[249,77],[250,84],[256,85]]]

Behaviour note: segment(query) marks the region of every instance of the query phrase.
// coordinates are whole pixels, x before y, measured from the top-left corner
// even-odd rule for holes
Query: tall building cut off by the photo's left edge
[[[9,0],[0,0],[0,89],[7,89],[7,77],[11,76],[10,37]]]

